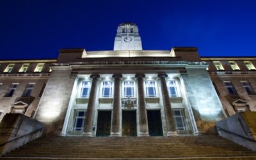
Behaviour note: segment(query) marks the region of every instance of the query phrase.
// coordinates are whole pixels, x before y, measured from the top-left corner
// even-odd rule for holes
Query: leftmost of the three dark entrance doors
[[[99,111],[96,136],[109,136],[111,127],[111,111]]]

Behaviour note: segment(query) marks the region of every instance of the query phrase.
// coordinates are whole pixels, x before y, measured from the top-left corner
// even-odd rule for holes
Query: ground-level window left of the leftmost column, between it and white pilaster
[[[84,130],[84,120],[86,118],[86,111],[76,110],[75,111],[75,120],[74,120],[74,131],[83,131]]]

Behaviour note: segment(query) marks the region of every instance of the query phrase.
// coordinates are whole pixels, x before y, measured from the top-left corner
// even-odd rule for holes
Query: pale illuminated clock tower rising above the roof
[[[142,50],[139,29],[132,22],[124,22],[117,28],[114,51],[118,50]]]

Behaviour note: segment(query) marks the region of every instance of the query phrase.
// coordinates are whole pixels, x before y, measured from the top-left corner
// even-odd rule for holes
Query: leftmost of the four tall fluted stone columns
[[[96,95],[96,87],[97,87],[96,84],[99,77],[100,77],[99,74],[92,74],[90,76],[90,78],[92,78],[92,86],[91,86],[90,97],[89,97],[88,106],[87,106],[87,115],[86,115],[85,125],[84,125],[85,136],[90,136],[90,137],[92,137],[93,109],[95,105],[95,95]]]

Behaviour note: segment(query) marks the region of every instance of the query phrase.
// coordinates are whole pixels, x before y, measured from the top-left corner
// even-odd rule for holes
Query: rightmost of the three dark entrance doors
[[[150,136],[163,136],[162,121],[160,110],[147,111],[148,133]]]

